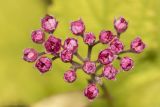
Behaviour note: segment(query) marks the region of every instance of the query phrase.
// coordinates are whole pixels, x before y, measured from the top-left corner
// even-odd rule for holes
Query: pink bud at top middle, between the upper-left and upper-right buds
[[[71,22],[71,31],[75,35],[83,35],[85,31],[85,25],[81,19]]]

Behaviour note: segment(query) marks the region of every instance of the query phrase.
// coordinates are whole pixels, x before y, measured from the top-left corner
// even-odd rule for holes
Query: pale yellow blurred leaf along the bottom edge
[[[86,107],[87,100],[81,91],[61,93],[35,103],[32,107]]]

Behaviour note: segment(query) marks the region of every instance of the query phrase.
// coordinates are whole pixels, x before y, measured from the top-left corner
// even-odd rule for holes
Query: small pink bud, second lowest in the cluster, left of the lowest
[[[73,83],[77,78],[76,71],[68,70],[64,73],[64,80],[68,83]]]

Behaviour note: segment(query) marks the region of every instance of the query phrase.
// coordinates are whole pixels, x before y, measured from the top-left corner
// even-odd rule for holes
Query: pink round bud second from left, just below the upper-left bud
[[[41,29],[35,30],[32,32],[31,38],[34,43],[42,44],[45,40],[45,34]]]

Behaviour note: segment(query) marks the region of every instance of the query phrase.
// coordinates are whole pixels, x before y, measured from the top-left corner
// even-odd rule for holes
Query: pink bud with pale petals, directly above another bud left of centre
[[[67,38],[64,41],[63,48],[75,53],[75,52],[77,52],[77,49],[78,49],[78,41],[76,39],[74,39],[74,38]]]

